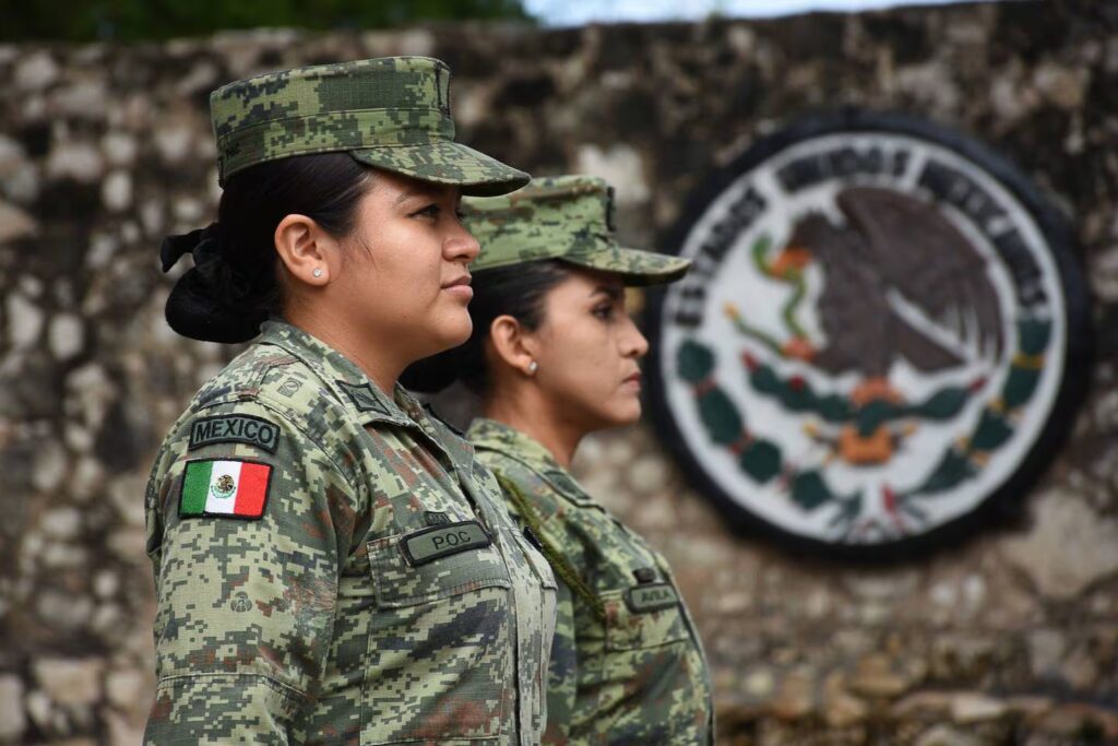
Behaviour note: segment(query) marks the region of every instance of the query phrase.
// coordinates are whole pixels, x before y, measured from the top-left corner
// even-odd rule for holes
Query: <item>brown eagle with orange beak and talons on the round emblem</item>
[[[836,205],[844,221],[804,216],[766,267],[780,280],[800,277],[812,262],[823,270],[816,311],[825,341],[796,336],[786,357],[833,376],[858,372],[851,398],[864,406],[903,400],[889,383],[899,359],[930,374],[1001,356],[1004,323],[986,259],[958,228],[887,189],[847,188]],[[836,451],[850,463],[887,462],[898,440],[879,431],[844,428]]]

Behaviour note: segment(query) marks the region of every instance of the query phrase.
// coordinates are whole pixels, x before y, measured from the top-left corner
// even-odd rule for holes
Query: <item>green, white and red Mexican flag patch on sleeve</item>
[[[187,462],[179,516],[259,518],[264,514],[271,480],[272,466],[255,461]]]

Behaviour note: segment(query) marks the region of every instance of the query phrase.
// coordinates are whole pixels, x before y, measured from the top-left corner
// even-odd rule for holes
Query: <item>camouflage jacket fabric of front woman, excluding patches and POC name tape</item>
[[[274,424],[273,450],[190,450],[192,423],[216,415]],[[180,518],[186,463],[231,459],[272,468],[263,517]],[[539,742],[553,575],[468,443],[401,388],[386,396],[267,322],[171,428],[145,509],[159,679],[146,744]],[[470,521],[490,540],[405,556],[416,535]]]

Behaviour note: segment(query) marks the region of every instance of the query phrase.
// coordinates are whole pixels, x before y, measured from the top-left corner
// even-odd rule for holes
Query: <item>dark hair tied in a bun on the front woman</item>
[[[283,309],[276,226],[305,215],[335,237],[349,235],[372,170],[349,153],[295,155],[236,173],[225,185],[217,223],[164,242],[165,272],[186,252],[195,266],[167,299],[167,321],[184,337],[244,342]]]

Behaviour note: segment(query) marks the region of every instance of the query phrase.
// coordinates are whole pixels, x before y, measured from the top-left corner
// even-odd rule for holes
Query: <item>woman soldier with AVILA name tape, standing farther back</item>
[[[483,271],[473,336],[443,370],[481,395],[485,417],[467,437],[560,580],[544,743],[708,744],[707,663],[667,564],[568,471],[584,435],[641,415],[647,342],[624,286],[688,268],[619,248],[610,192],[600,179],[559,177],[466,200]],[[437,388],[437,361],[408,376]]]

